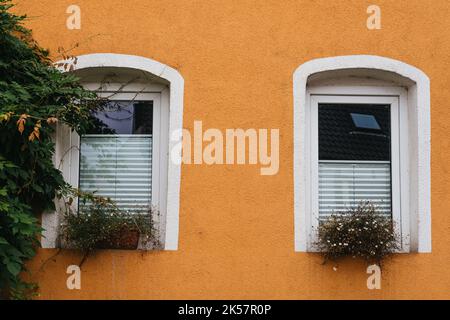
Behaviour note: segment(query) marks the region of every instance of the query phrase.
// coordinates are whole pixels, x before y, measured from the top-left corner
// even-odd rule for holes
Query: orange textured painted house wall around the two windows
[[[81,8],[80,30],[66,9]],[[450,4],[376,1],[382,29],[368,30],[371,1],[27,0],[16,10],[44,47],[72,54],[152,58],[185,80],[184,127],[279,128],[280,170],[183,165],[178,251],[101,251],[68,290],[81,256],[40,250],[30,263],[46,299],[311,299],[450,297]],[[431,80],[431,254],[402,254],[366,287],[366,265],[321,265],[294,252],[292,75],[320,57],[370,54],[423,70]],[[43,262],[48,260],[45,265]]]

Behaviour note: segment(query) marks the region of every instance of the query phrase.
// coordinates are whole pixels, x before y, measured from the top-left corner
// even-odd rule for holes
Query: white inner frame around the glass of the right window
[[[366,95],[363,93],[367,92]],[[339,93],[339,95],[336,95]],[[370,95],[369,95],[370,94]],[[310,107],[309,118],[310,145],[310,196],[307,207],[311,215],[308,223],[308,247],[314,251],[319,227],[319,104],[379,104],[390,106],[391,119],[391,208],[396,232],[401,236],[401,252],[409,252],[409,200],[407,152],[400,152],[401,146],[408,145],[407,94],[403,88],[389,87],[312,87],[307,90]],[[376,108],[376,107],[374,107]],[[400,119],[403,119],[401,121]],[[407,149],[407,148],[406,148]]]

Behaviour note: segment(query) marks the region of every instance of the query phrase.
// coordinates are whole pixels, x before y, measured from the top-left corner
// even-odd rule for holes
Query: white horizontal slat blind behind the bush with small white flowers
[[[319,219],[370,201],[391,215],[391,165],[387,161],[319,161]]]

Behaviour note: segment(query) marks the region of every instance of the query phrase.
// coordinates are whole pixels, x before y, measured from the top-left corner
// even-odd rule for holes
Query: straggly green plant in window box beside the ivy
[[[89,254],[95,249],[137,249],[141,245],[158,247],[153,209],[143,213],[121,210],[109,198],[78,192],[79,210],[69,210],[64,215],[62,241],[70,248]],[[73,199],[73,198],[69,198]]]

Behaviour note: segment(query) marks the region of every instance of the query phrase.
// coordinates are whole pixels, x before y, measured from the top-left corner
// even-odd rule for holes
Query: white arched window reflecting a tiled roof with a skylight
[[[317,59],[294,73],[295,250],[313,251],[334,210],[373,202],[403,252],[431,251],[428,77],[376,56]]]

